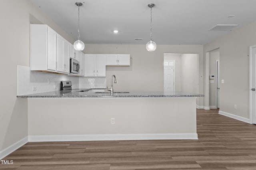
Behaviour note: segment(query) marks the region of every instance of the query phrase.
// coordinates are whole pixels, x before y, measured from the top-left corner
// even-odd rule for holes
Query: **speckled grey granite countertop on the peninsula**
[[[18,98],[40,98],[40,97],[204,97],[204,95],[196,93],[186,93],[175,91],[172,92],[116,92],[113,96],[106,89],[72,89],[69,91],[50,91],[45,93],[35,93],[30,95],[19,95]]]

